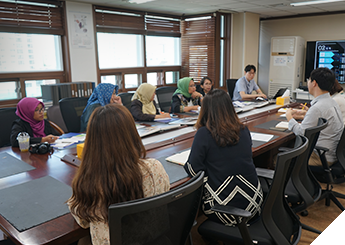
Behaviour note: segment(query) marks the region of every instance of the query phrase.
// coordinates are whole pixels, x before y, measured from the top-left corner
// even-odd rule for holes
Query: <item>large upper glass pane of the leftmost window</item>
[[[0,47],[0,73],[63,70],[58,35],[0,32]]]

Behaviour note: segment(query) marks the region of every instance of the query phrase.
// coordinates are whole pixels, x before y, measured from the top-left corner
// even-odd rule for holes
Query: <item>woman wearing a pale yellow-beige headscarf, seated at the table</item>
[[[134,120],[153,121],[156,118],[170,118],[169,113],[159,113],[156,101],[154,101],[155,95],[156,86],[148,83],[139,86],[131,103],[131,113]]]

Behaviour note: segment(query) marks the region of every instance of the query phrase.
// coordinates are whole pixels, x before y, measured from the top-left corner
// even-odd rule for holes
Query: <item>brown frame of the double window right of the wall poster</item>
[[[179,25],[177,28],[176,20],[180,17],[161,15],[157,13],[146,13],[141,11],[133,10],[124,10],[117,8],[109,8],[104,6],[94,5],[95,10],[95,30],[96,36],[98,32],[106,33],[119,33],[119,34],[138,34],[142,35],[143,40],[143,67],[131,67],[131,68],[112,68],[112,69],[100,69],[99,68],[99,57],[98,57],[98,43],[96,41],[96,53],[97,53],[97,74],[99,83],[101,82],[102,76],[109,75],[120,75],[121,76],[121,86],[119,89],[120,92],[135,91],[137,87],[126,88],[125,75],[126,74],[141,74],[142,83],[147,83],[147,73],[151,72],[164,72],[164,76],[160,84],[157,84],[157,87],[161,86],[177,86],[176,84],[167,84],[165,81],[165,72],[167,71],[178,71],[181,75],[181,65],[180,66],[147,66],[146,64],[146,36],[168,36],[168,37],[181,37],[179,31]],[[99,12],[97,12],[99,11]],[[107,15],[110,12],[113,12],[112,15]],[[125,18],[120,16],[118,13],[123,13]],[[132,16],[132,18],[131,18]],[[152,17],[155,16],[155,17]],[[116,22],[111,20],[111,18],[118,17],[119,20]],[[161,18],[160,18],[161,17]],[[126,24],[126,27],[120,27],[122,19],[129,20],[130,23]],[[173,20],[170,20],[173,19]],[[143,21],[142,23],[147,25],[145,26],[136,23],[136,21]],[[155,25],[157,23],[157,25]],[[160,24],[168,23],[171,26],[171,31],[167,31],[164,27],[162,28]],[[113,26],[110,26],[113,25]],[[169,29],[169,28],[168,28]],[[170,29],[169,29],[170,30]],[[178,32],[177,32],[178,30]]]

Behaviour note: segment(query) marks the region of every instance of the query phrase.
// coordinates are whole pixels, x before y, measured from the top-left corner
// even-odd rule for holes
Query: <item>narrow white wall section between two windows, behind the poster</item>
[[[90,81],[97,84],[95,30],[92,5],[66,1],[66,12],[72,82]],[[75,15],[85,15],[90,18],[90,20],[86,21],[86,32],[78,33],[76,31]],[[76,42],[76,40],[78,40],[77,35],[90,42],[85,45]],[[79,45],[75,45],[76,43],[79,43]]]

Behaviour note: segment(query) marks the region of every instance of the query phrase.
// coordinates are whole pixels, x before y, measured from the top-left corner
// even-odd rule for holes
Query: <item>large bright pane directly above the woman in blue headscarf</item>
[[[100,69],[142,67],[142,35],[97,33]]]

